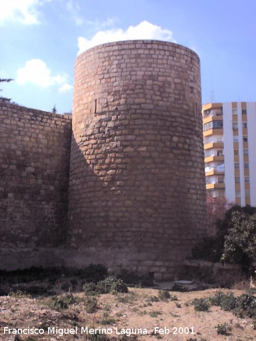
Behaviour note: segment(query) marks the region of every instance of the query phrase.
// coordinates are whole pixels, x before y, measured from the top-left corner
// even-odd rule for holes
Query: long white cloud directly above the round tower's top
[[[78,54],[105,42],[134,39],[155,39],[175,42],[172,31],[162,29],[160,26],[145,20],[137,26],[129,26],[125,31],[122,29],[111,29],[97,32],[92,39],[78,37]]]

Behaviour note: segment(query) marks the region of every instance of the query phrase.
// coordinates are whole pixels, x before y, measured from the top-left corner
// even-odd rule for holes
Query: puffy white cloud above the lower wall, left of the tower
[[[17,70],[16,82],[20,85],[31,83],[45,88],[60,85],[59,91],[66,92],[72,88],[67,83],[67,78],[66,74],[53,76],[52,71],[43,60],[31,59],[26,62],[24,67]]]

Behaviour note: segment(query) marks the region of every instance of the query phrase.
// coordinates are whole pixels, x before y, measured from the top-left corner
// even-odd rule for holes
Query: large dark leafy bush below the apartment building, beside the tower
[[[256,208],[238,205],[217,221],[217,234],[204,238],[192,250],[192,258],[242,264],[248,276],[256,271]]]

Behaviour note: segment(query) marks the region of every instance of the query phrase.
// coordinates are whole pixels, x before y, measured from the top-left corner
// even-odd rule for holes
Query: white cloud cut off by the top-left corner
[[[38,6],[51,0],[2,0],[0,11],[0,24],[5,21],[15,21],[21,24],[39,24],[40,12]]]

